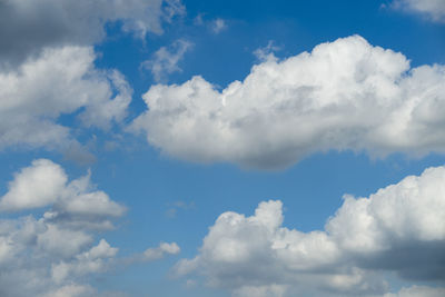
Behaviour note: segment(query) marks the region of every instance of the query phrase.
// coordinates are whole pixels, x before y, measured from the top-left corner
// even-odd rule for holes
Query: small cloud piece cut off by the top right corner
[[[445,22],[445,2],[443,0],[395,0],[392,7],[422,14],[435,22]]]

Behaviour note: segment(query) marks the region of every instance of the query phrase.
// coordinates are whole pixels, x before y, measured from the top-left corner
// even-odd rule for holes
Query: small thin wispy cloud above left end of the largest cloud
[[[178,63],[191,46],[187,40],[176,40],[169,48],[161,47],[154,53],[154,58],[142,62],[141,67],[150,69],[156,81],[164,81],[168,75],[182,71]]]

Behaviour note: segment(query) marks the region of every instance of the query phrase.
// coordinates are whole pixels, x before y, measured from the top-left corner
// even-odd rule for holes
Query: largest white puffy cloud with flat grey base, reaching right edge
[[[254,66],[219,91],[201,77],[152,86],[134,129],[180,159],[289,166],[307,155],[445,151],[445,67],[409,68],[358,36]]]

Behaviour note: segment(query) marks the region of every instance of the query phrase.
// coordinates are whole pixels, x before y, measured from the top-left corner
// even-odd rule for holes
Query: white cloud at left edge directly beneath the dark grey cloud
[[[46,49],[17,70],[0,70],[0,149],[80,147],[59,122],[77,113],[80,127],[107,129],[120,122],[132,90],[116,70],[95,68],[89,47]]]

